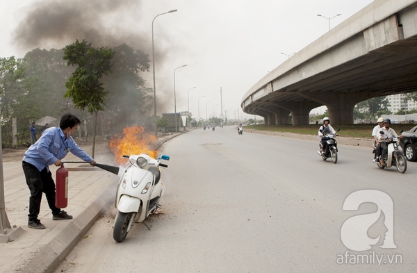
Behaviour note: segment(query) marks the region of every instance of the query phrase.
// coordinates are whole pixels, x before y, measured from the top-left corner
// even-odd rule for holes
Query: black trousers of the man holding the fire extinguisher
[[[29,197],[29,221],[38,219],[42,192],[47,197],[52,214],[57,215],[60,213],[60,209],[55,206],[55,183],[51,172],[48,172],[46,167],[39,172],[38,168],[24,161],[22,162],[22,168],[26,184],[31,191],[31,197]]]

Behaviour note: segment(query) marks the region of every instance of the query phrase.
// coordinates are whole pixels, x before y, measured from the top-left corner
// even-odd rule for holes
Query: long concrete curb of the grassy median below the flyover
[[[247,133],[260,133],[262,135],[275,135],[283,138],[296,138],[299,140],[311,140],[318,142],[317,135],[300,135],[297,133],[287,133],[287,132],[276,132],[276,131],[261,131],[261,130],[254,130],[254,129],[245,129],[243,131]],[[367,147],[373,148],[374,140],[372,138],[363,139],[363,138],[343,138],[337,137],[337,143],[342,145],[350,145],[350,146],[359,146],[359,147]]]

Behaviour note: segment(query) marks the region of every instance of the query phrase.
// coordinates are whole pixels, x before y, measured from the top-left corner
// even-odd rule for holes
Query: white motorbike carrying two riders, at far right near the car
[[[403,131],[401,130],[400,133],[402,133]],[[384,135],[384,131],[380,131],[379,132],[381,135]],[[373,145],[374,149],[373,149],[373,154],[374,155],[374,159],[377,158],[377,147],[376,144],[374,143]],[[397,167],[398,172],[404,174],[404,172],[407,170],[407,160],[404,156],[404,153],[402,150],[400,150],[400,148],[398,147],[398,138],[389,138],[389,142],[386,145],[386,156],[384,158],[382,158],[382,156],[379,156],[379,161],[375,162],[378,167],[380,169],[384,169],[385,167],[389,168],[389,167]],[[385,165],[382,165],[381,161],[384,160]]]

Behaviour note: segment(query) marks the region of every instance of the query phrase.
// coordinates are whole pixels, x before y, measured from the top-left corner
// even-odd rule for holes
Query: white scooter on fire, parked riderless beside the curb
[[[163,183],[159,181],[159,167],[168,167],[159,161],[170,160],[170,157],[165,155],[158,160],[146,154],[123,157],[129,158],[130,165],[124,169],[117,185],[117,214],[113,224],[113,239],[116,242],[123,242],[135,222],[143,222],[159,208],[158,201],[164,188]],[[150,229],[151,226],[147,228]]]

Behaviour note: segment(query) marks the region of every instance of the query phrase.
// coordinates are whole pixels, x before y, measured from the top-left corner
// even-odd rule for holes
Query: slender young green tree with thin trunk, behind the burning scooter
[[[112,49],[94,48],[91,43],[85,40],[82,42],[76,40],[74,44],[67,45],[64,48],[63,59],[67,60],[67,66],[78,66],[65,83],[68,91],[64,97],[72,98],[75,108],[81,110],[88,108],[88,113],[95,113],[92,157],[94,157],[95,151],[97,113],[99,110],[104,110],[106,95],[109,92],[104,88],[104,82],[100,80],[103,75],[111,72],[114,54]]]

